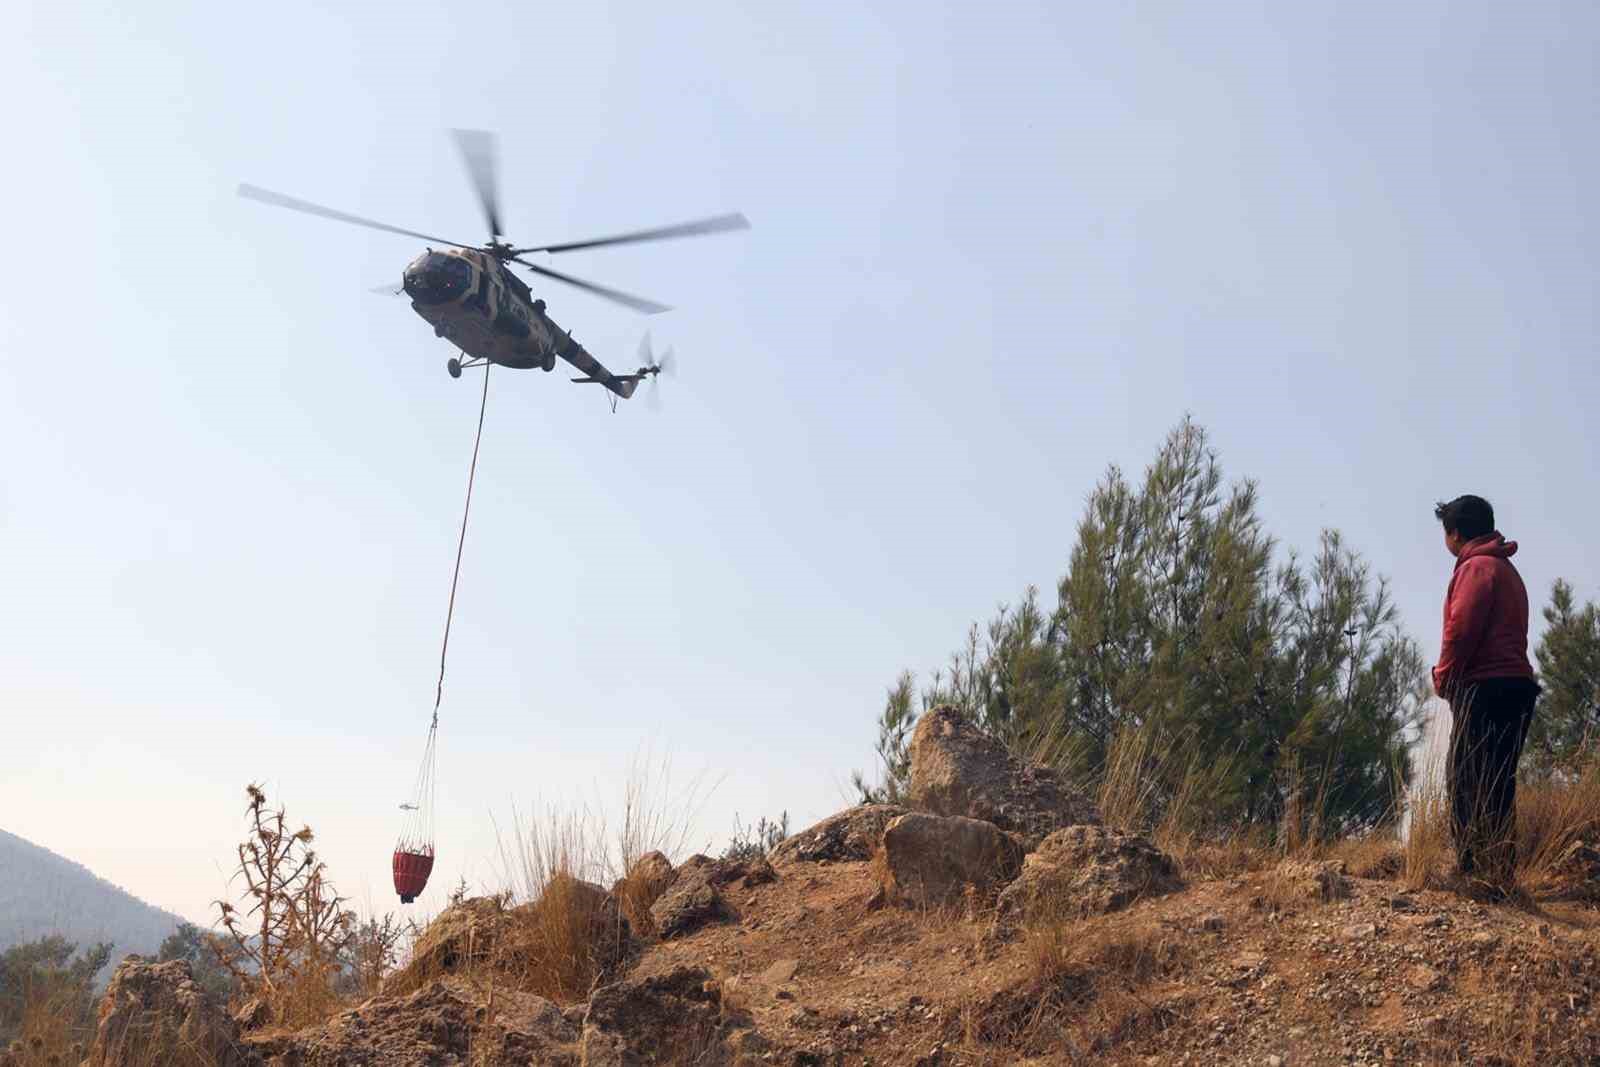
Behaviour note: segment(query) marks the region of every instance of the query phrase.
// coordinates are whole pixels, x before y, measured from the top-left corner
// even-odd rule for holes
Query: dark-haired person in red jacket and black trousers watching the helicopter
[[[1462,875],[1509,889],[1517,869],[1517,760],[1539,696],[1528,662],[1528,590],[1515,541],[1494,530],[1482,496],[1434,509],[1456,569],[1434,691],[1450,701],[1446,787]]]

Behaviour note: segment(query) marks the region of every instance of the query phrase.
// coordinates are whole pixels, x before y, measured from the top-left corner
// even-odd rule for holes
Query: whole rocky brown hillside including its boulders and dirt
[[[910,757],[904,805],[770,851],[458,901],[362,992],[282,971],[229,1014],[181,961],[125,965],[83,1064],[174,1033],[202,1067],[1600,1062],[1597,781],[1507,897],[1427,833],[1163,849],[954,709]]]

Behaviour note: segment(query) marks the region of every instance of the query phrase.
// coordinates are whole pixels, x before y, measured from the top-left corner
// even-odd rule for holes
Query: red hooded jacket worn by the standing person
[[[1515,541],[1491,533],[1469,541],[1456,557],[1445,593],[1445,633],[1434,667],[1434,689],[1485,678],[1531,678],[1528,589],[1512,566]]]

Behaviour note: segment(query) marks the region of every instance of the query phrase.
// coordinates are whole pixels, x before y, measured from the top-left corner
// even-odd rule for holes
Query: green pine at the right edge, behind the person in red
[[[1534,656],[1544,693],[1528,747],[1541,766],[1566,765],[1600,729],[1600,605],[1579,609],[1573,587],[1557,579]]]

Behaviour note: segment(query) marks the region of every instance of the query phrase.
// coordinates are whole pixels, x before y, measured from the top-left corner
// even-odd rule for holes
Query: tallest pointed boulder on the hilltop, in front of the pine
[[[926,712],[910,737],[910,803],[994,822],[1029,849],[1067,825],[1099,824],[1094,803],[1056,771],[1013,758],[954,707]]]

